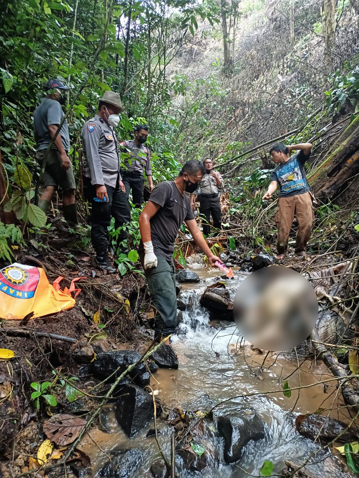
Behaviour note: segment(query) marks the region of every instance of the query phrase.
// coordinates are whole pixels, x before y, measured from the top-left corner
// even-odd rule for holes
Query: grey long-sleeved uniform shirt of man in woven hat
[[[119,174],[119,155],[114,130],[95,115],[89,119],[81,132],[84,152],[84,175],[91,184],[108,184],[116,187]]]

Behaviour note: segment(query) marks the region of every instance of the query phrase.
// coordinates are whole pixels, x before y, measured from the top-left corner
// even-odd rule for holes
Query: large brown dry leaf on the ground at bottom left
[[[72,443],[82,432],[86,420],[68,413],[56,413],[44,422],[44,433],[56,443],[63,446]]]

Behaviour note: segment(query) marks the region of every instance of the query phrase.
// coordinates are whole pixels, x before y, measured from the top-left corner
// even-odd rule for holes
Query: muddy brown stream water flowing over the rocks
[[[186,294],[194,297],[194,305],[193,310],[183,313],[184,321],[179,334],[173,338],[179,369],[159,369],[151,385],[158,390],[158,397],[170,407],[179,406],[183,410],[193,411],[208,410],[226,400],[226,403],[216,408],[216,416],[235,412],[245,405],[253,407],[264,419],[265,439],[249,442],[240,462],[218,465],[213,461],[213,466],[203,470],[201,476],[244,478],[248,473],[259,475],[265,460],[274,464],[274,472],[281,473],[285,467],[284,460],[304,461],[319,448],[319,445],[295,432],[295,414],[314,412],[319,407],[329,408],[333,401],[336,403],[334,406],[340,406],[341,403],[335,400],[335,384],[330,382],[327,393],[324,394],[323,384],[317,382],[331,378],[326,367],[307,362],[301,366],[301,372],[298,373],[295,371],[295,356],[291,357],[291,360],[268,357],[262,367],[264,355],[251,350],[249,345],[237,350],[238,336],[235,327],[228,323],[225,324],[227,328],[224,330],[210,327],[208,313],[199,305],[198,300],[203,289],[213,283],[216,276],[215,272],[202,272],[201,283],[183,287]],[[233,281],[228,281],[227,286],[232,294],[244,277],[237,273]],[[292,391],[290,398],[284,397],[282,387],[287,377],[291,387],[316,385],[303,388],[300,392]],[[259,392],[263,394],[256,394]],[[252,396],[248,397],[251,394]],[[238,395],[247,397],[233,398]],[[346,419],[335,411],[332,412],[332,417]],[[158,427],[162,431],[159,441],[169,455],[171,430],[161,423]],[[150,465],[160,455],[154,438],[146,438],[150,428],[153,428],[153,422],[143,432],[139,432],[136,438],[129,440],[116,425],[112,411],[109,420],[111,432],[94,429],[90,432],[92,440],[86,439],[82,443],[82,449],[90,455],[93,464],[92,476],[97,475],[98,469],[106,461],[104,453],[98,447],[109,455],[114,450],[141,447],[145,451],[144,463],[133,476],[152,476]],[[222,455],[221,439],[213,439],[213,446]],[[191,476],[186,474],[179,459],[177,471],[181,477]]]

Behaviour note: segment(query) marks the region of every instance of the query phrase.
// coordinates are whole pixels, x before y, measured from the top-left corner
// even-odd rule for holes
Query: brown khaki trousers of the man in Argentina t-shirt
[[[275,215],[275,223],[278,227],[278,254],[284,254],[287,251],[289,233],[294,215],[298,222],[295,254],[301,254],[306,249],[314,221],[312,196],[310,193],[278,199],[278,209]]]

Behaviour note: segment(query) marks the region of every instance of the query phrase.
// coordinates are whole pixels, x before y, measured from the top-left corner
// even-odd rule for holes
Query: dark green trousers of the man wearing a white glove
[[[155,337],[173,334],[177,325],[176,279],[173,261],[157,256],[157,267],[145,269],[152,305]]]

